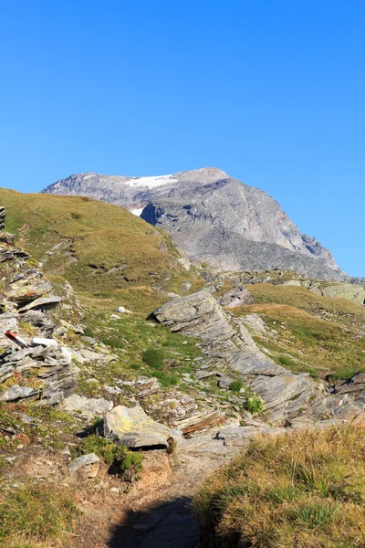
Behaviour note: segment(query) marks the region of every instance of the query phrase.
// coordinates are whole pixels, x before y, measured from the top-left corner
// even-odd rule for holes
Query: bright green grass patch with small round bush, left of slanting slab
[[[120,379],[129,381],[141,375],[158,377],[162,387],[169,388],[180,383],[183,373],[192,373],[198,368],[194,359],[201,354],[201,349],[196,339],[171,333],[161,324],[146,321],[141,314],[112,320],[108,313],[89,310],[85,323],[92,336],[98,342],[107,343],[118,359],[93,367],[99,385],[86,382],[89,372],[81,374],[78,380],[81,394],[97,397],[102,395],[103,385],[115,385]],[[120,344],[116,346],[115,342]],[[183,385],[179,387],[183,389]],[[128,402],[123,398],[120,404],[125,403]]]

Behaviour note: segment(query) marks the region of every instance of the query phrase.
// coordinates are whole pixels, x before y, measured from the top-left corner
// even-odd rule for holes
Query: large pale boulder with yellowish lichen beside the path
[[[116,406],[104,417],[104,435],[127,448],[165,448],[169,429],[147,416],[141,406]]]

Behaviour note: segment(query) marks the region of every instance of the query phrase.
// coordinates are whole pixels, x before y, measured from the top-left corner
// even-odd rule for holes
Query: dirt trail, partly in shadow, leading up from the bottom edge
[[[90,548],[198,548],[199,529],[191,511],[193,494],[226,461],[223,452],[202,451],[203,439],[195,437],[184,444],[173,471],[162,452],[147,458],[141,480],[127,500],[114,503],[120,513],[112,518],[108,540],[89,544]],[[79,545],[87,545],[85,541]]]

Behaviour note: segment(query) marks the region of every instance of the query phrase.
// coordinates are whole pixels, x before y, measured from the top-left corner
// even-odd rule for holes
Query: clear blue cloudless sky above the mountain
[[[365,276],[364,0],[0,0],[0,185],[214,165]]]

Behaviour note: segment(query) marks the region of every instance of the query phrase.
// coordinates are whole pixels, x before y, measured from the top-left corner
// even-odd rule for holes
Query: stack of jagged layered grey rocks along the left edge
[[[30,268],[28,258],[25,251],[15,247],[13,235],[0,233],[0,401],[36,400],[39,405],[54,406],[75,390],[78,368],[65,359],[63,348],[52,339],[55,325],[48,310],[57,307],[61,299],[46,297],[52,293],[52,285],[43,279],[41,269]],[[39,336],[32,341],[22,333],[26,323],[38,331]],[[14,332],[26,339],[24,348],[16,345]],[[33,377],[30,385],[27,374]],[[3,389],[5,381],[13,385]]]

